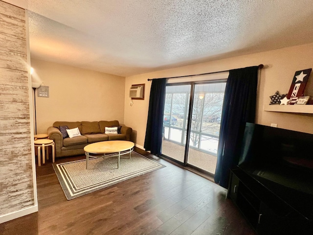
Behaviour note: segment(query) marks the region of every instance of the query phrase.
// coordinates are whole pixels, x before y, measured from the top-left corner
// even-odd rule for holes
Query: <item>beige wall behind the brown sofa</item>
[[[37,133],[55,121],[118,120],[124,123],[125,77],[31,59],[33,80],[49,87],[36,91]]]

